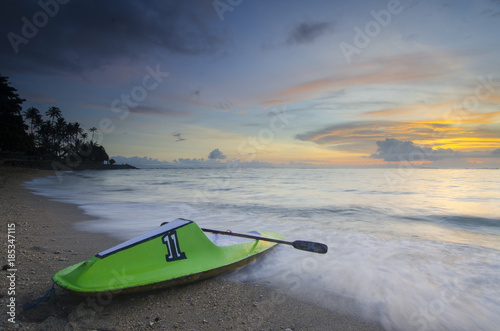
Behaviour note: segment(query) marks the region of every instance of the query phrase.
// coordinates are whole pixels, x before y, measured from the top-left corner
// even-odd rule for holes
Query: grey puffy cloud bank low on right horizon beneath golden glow
[[[383,159],[387,162],[499,157],[496,151],[459,152],[451,148],[435,149],[432,147],[420,147],[412,141],[402,141],[394,138],[377,141],[377,147],[377,152],[370,155],[370,157]]]

